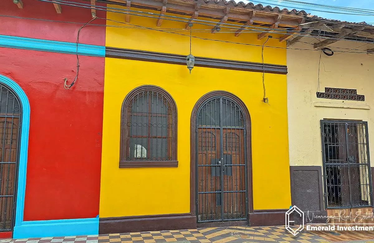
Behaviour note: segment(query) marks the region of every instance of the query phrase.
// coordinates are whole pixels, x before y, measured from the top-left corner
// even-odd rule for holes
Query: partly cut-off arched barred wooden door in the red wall
[[[12,231],[22,107],[10,87],[0,83],[0,231]]]

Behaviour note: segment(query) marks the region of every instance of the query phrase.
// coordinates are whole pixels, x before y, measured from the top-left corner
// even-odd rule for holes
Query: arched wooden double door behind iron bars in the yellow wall
[[[197,222],[246,220],[246,124],[225,96],[205,101],[196,116]]]

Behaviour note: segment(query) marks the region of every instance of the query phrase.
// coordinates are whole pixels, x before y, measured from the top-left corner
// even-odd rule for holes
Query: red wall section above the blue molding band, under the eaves
[[[47,19],[87,23],[92,19],[91,9],[61,5],[62,13],[56,13],[52,3],[38,0],[22,0],[24,8],[19,9],[12,0],[0,0],[0,15],[24,18]],[[77,1],[89,4],[89,1]],[[105,5],[96,3],[98,5]],[[106,13],[96,10],[99,18],[106,18]],[[91,24],[105,25],[105,19],[95,19]],[[83,24],[68,24],[30,19],[0,17],[0,34],[8,36],[30,37],[36,39],[76,42],[77,33]],[[79,34],[79,43],[105,46],[105,26],[86,25]]]

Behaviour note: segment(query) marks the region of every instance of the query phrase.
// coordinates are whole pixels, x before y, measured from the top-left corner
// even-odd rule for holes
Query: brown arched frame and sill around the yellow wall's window
[[[167,141],[167,149],[171,148],[171,160],[126,160],[126,151],[128,149],[129,143],[129,136],[128,129],[129,127],[126,126],[128,122],[128,106],[132,101],[132,98],[140,92],[144,91],[155,91],[163,95],[170,104],[171,108],[171,144],[169,146]],[[159,86],[155,85],[142,85],[136,87],[135,89],[131,90],[131,92],[126,95],[125,99],[122,103],[121,108],[121,130],[120,130],[120,160],[119,160],[119,168],[150,168],[150,167],[178,167],[178,157],[177,157],[177,126],[178,126],[178,111],[177,105],[175,104],[174,99],[172,96],[164,89]]]

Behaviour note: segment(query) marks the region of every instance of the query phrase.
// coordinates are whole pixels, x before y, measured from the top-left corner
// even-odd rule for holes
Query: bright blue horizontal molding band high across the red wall
[[[40,50],[43,52],[57,52],[76,54],[77,44],[72,42],[41,40],[27,37],[0,35],[0,47],[26,50]],[[84,56],[105,57],[105,46],[78,44],[78,54]]]

